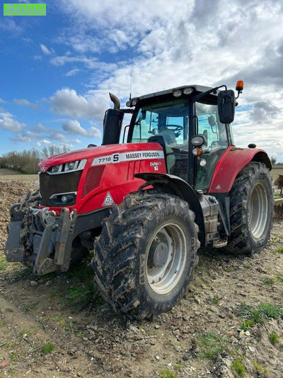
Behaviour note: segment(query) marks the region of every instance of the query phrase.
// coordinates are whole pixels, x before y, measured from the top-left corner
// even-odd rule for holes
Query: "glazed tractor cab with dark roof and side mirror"
[[[216,163],[228,146],[233,145],[230,126],[235,108],[233,91],[218,88],[192,85],[168,89],[135,97],[127,102],[130,109],[110,110],[132,113],[129,126],[124,130],[124,141],[159,143],[163,147],[167,173],[205,192]],[[109,114],[106,118],[112,120]],[[121,132],[121,118],[118,121],[120,127],[116,130]],[[112,124],[110,126],[112,128]],[[105,138],[110,134],[110,130],[109,133],[104,130]]]

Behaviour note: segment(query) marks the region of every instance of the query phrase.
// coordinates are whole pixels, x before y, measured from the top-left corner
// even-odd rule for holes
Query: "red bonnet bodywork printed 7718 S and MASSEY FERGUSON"
[[[76,209],[78,214],[89,213],[111,206],[104,204],[108,193],[115,204],[137,191],[144,184],[134,174],[141,172],[166,173],[163,148],[158,143],[127,143],[85,148],[74,152],[56,155],[40,162],[41,172],[67,162],[86,159],[76,194],[76,204],[67,206]],[[64,179],[64,174],[61,174]],[[108,196],[109,198],[109,196]],[[40,206],[40,209],[46,206]],[[61,207],[50,207],[59,214]]]

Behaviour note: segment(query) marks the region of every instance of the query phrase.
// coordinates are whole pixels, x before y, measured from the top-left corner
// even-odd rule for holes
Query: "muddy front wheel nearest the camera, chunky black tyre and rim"
[[[95,284],[115,311],[136,318],[166,312],[192,280],[198,228],[187,202],[130,194],[113,208],[95,241]]]

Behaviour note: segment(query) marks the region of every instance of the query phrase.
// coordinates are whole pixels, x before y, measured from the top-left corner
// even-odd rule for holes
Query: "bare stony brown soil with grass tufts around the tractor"
[[[0,377],[283,377],[282,221],[258,255],[201,254],[180,304],[140,323],[103,303],[89,261],[45,277],[6,263],[8,209],[37,185],[12,180],[0,181]]]

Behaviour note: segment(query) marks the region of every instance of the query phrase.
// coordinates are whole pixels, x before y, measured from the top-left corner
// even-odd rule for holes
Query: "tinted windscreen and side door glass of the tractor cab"
[[[195,101],[193,107],[189,105],[188,99],[181,98],[141,106],[131,125],[128,142],[160,143],[166,157],[167,172],[190,181],[195,189],[206,191],[216,162],[228,146],[226,126],[219,121],[217,104],[212,104],[211,99]],[[191,115],[189,109],[192,109]],[[188,132],[189,116],[193,120],[190,128],[193,135]],[[189,143],[196,134],[205,138],[202,156],[197,158],[192,155],[193,147]],[[196,165],[192,163],[195,159]],[[200,159],[206,160],[204,166],[199,164]]]

